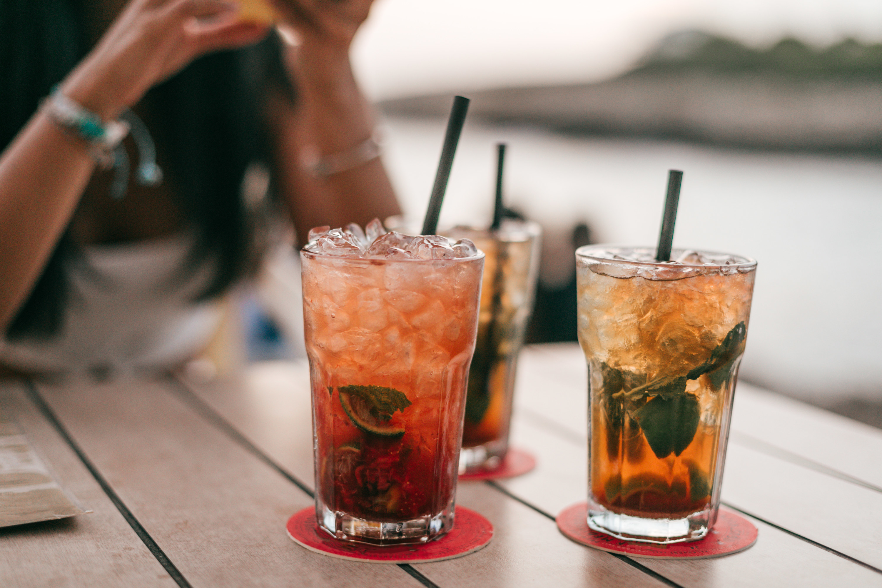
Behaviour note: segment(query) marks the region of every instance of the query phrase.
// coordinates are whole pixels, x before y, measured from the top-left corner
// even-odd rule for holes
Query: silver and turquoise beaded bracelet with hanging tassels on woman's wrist
[[[101,116],[71,100],[57,88],[43,100],[42,109],[63,130],[86,141],[89,155],[101,167],[113,167],[116,160],[114,149],[129,134],[129,123],[104,123]]]

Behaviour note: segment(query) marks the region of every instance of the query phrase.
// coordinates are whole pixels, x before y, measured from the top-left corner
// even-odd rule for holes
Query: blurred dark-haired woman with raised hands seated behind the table
[[[371,4],[274,0],[285,43],[221,0],[4,0],[0,375],[180,364],[274,203],[301,240],[399,212],[349,62]]]

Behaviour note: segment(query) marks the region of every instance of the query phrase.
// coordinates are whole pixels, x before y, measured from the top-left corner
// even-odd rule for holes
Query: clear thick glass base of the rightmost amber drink
[[[622,515],[597,504],[588,506],[588,527],[617,539],[646,543],[681,543],[699,540],[712,524],[710,510],[685,518],[645,518]]]

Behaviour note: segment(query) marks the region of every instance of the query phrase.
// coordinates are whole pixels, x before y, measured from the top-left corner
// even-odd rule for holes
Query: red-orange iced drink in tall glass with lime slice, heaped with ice
[[[483,254],[471,242],[313,229],[301,252],[316,517],[341,540],[453,525]]]

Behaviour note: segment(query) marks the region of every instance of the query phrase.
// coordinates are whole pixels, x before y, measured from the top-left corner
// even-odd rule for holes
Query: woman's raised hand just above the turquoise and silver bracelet
[[[250,45],[267,27],[236,19],[221,0],[132,0],[62,91],[105,120],[206,53]]]

